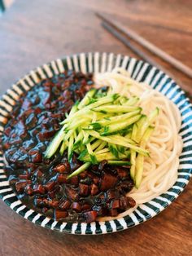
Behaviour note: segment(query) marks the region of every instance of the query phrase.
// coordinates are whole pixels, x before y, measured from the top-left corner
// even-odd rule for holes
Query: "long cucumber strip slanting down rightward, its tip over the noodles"
[[[97,139],[102,139],[103,141],[107,141],[108,143],[114,143],[120,146],[124,146],[126,148],[132,148],[134,149],[136,152],[141,153],[143,156],[148,157],[149,156],[149,152],[147,150],[144,150],[142,148],[139,148],[135,145],[132,145],[131,143],[127,143],[124,139],[124,137],[120,136],[122,139],[112,139],[112,136],[101,136],[98,134],[97,131],[95,130],[89,130],[89,135],[97,138]]]

